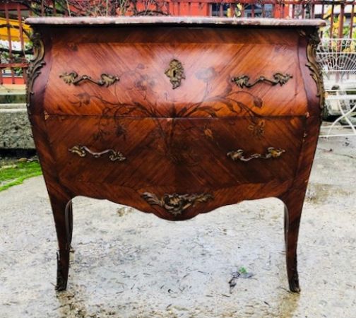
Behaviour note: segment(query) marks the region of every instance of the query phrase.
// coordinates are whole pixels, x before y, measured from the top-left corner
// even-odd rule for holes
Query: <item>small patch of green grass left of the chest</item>
[[[0,167],[0,192],[23,183],[30,177],[42,175],[40,163],[30,161],[25,163],[12,163]]]

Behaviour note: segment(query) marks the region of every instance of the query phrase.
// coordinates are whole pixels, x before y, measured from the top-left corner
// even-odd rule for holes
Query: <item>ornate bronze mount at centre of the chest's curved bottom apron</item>
[[[157,205],[165,208],[165,210],[173,216],[182,214],[184,210],[190,206],[194,206],[196,203],[202,203],[209,200],[213,200],[214,197],[209,193],[202,194],[164,194],[162,198],[158,199],[155,194],[145,192],[142,194],[151,206]]]

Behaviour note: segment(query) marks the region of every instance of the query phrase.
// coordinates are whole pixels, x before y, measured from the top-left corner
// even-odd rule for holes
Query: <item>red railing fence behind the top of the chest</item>
[[[118,5],[121,3],[121,6]],[[0,1],[0,85],[25,83],[31,52],[27,16],[220,16],[324,18],[323,37],[356,37],[356,1],[321,0],[35,0]],[[355,19],[355,22],[354,22]]]

